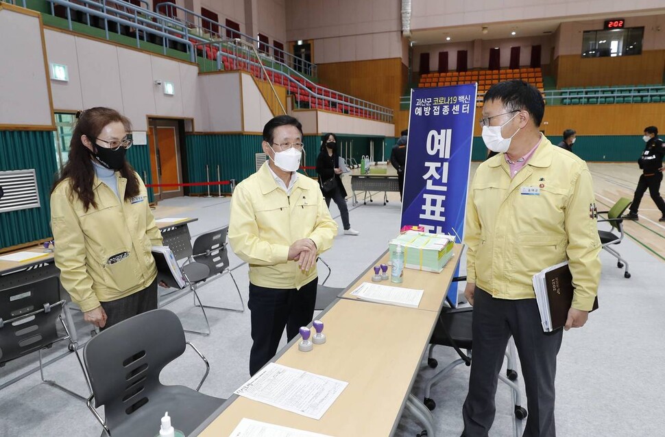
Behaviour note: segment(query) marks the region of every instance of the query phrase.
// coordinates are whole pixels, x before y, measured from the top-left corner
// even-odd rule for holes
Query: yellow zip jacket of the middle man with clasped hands
[[[315,279],[317,269],[302,272],[296,261],[287,261],[289,246],[310,238],[320,254],[333,246],[337,223],[315,180],[300,175],[287,196],[267,166],[233,191],[228,240],[235,254],[249,263],[251,283],[300,289]]]

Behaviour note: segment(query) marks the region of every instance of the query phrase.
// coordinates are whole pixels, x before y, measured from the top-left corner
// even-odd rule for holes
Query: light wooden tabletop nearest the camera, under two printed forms
[[[243,417],[330,436],[389,436],[402,414],[437,319],[435,311],[339,300],[321,320],[325,344],[297,342],[276,362],[347,381],[321,420],[237,397],[199,435],[228,436]]]

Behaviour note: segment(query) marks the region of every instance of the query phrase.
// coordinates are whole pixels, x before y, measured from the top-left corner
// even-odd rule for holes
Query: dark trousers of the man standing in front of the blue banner
[[[515,339],[527,389],[524,437],[556,436],[554,421],[557,353],[563,329],[545,333],[534,299],[493,298],[476,287],[473,305],[473,351],[469,393],[462,417],[465,437],[487,437],[494,422],[494,394],[508,340]]]

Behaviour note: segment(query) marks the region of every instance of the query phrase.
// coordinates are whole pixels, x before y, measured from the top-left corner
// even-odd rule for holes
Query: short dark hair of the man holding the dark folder
[[[545,102],[540,91],[523,80],[507,80],[494,84],[483,98],[483,103],[498,100],[507,110],[526,110],[536,127],[540,127],[545,113]]]

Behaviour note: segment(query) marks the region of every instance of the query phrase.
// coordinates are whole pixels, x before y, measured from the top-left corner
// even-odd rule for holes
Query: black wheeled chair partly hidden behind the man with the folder
[[[466,281],[466,277],[460,276],[452,279],[452,282],[454,283],[461,281]],[[436,368],[438,366],[437,360],[432,356],[435,346],[452,347],[459,355],[459,359],[456,359],[442,370],[439,370],[439,372],[437,372],[435,375],[426,379],[423,403],[429,410],[434,410],[436,408],[434,399],[430,397],[432,386],[443,379],[444,376],[448,375],[448,373],[455,367],[461,364],[471,366],[473,349],[472,322],[473,307],[444,307],[441,314],[439,315],[439,320],[437,320],[437,324],[430,339],[427,364],[431,368]],[[464,352],[463,349],[466,352]],[[513,382],[518,378],[516,370],[513,369],[515,366],[513,351],[511,351],[511,353],[507,352],[506,356],[508,358],[508,368],[506,370],[506,375],[498,375],[498,378],[500,381],[506,383],[513,392],[515,414],[514,430],[516,435],[521,435],[521,424],[518,421],[522,421],[522,419],[527,417],[527,410],[520,405],[522,403],[520,387],[517,383]]]

